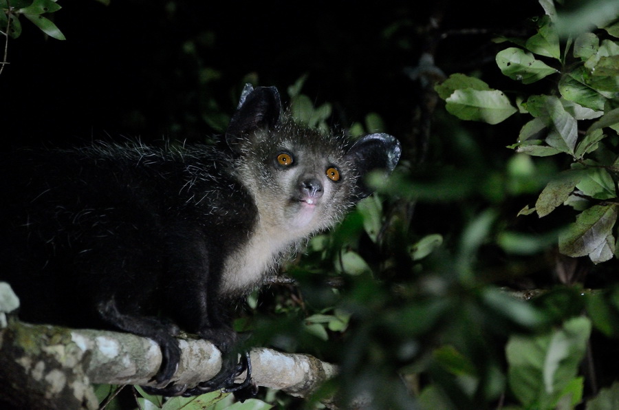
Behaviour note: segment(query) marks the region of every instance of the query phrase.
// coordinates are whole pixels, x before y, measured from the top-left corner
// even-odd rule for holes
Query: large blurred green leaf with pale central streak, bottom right
[[[574,396],[578,396],[574,386],[578,384],[578,366],[585,356],[590,334],[591,322],[577,317],[566,321],[562,329],[547,334],[510,338],[506,346],[508,382],[525,407],[554,409],[566,396],[574,402]]]

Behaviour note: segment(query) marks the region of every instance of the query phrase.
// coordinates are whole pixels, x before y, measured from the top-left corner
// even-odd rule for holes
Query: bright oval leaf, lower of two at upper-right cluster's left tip
[[[446,99],[446,109],[461,120],[498,124],[517,109],[499,90],[457,89]]]

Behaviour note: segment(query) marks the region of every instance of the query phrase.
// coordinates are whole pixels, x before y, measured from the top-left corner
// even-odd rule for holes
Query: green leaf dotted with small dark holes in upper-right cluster
[[[536,60],[531,53],[516,47],[499,52],[497,65],[503,74],[512,80],[522,81],[523,84],[534,83],[558,72],[557,69]]]

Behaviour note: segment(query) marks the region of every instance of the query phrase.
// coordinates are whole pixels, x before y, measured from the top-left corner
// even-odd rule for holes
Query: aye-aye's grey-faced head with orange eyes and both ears
[[[344,211],[367,197],[365,176],[391,173],[400,142],[372,133],[349,143],[342,136],[307,129],[281,114],[275,87],[246,85],[226,131],[238,158],[241,182],[259,208],[261,220],[301,237],[332,226]]]

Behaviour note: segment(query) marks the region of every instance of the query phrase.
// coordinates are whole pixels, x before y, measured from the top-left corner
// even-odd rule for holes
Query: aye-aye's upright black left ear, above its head
[[[281,101],[275,87],[257,87],[246,84],[239,106],[226,129],[226,142],[232,151],[244,135],[261,128],[273,128],[279,123]]]

